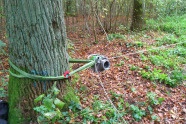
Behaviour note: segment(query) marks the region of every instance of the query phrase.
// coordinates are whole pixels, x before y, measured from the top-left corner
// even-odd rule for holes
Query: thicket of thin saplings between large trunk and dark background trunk
[[[66,5],[67,1],[68,0],[64,0],[63,3]],[[84,23],[82,30],[85,32],[88,30],[90,35],[95,36],[95,32],[98,34],[103,32],[97,16],[97,20],[92,19],[95,18],[95,12],[107,32],[115,32],[121,25],[126,27],[126,29],[130,27],[133,8],[133,1],[131,0],[101,0],[92,2],[90,2],[90,0],[71,0],[71,2],[71,12],[67,12],[67,7],[64,9],[68,32],[76,31],[74,27],[80,23]],[[78,4],[76,5],[76,3]],[[94,4],[92,5],[92,3]],[[77,7],[79,7],[79,9],[77,9]],[[77,10],[79,10],[79,12],[75,14],[75,19],[78,21],[74,23],[73,13]],[[94,10],[94,12],[92,10]],[[81,28],[81,26],[78,28]],[[96,31],[94,29],[96,29]]]

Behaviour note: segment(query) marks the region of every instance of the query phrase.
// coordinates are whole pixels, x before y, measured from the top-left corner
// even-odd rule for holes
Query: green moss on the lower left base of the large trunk
[[[11,71],[17,73],[14,69]],[[29,111],[32,109],[30,102],[26,99],[29,97],[29,86],[33,81],[30,79],[20,79],[13,76],[9,76],[8,84],[8,103],[9,103],[9,119],[10,124],[20,124],[28,122],[31,114]],[[28,102],[27,102],[28,101]]]

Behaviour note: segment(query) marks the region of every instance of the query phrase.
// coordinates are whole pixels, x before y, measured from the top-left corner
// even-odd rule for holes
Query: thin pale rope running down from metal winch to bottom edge
[[[95,66],[96,66],[96,64],[95,64]],[[97,72],[97,67],[95,67],[95,69],[96,69],[96,72]],[[125,121],[125,119],[122,117],[121,113],[117,110],[117,108],[115,107],[115,105],[113,104],[113,102],[111,101],[111,99],[109,98],[108,93],[106,92],[105,87],[104,87],[104,85],[103,85],[103,82],[101,81],[101,78],[100,78],[100,76],[99,76],[99,73],[98,73],[98,79],[99,79],[99,82],[100,82],[100,84],[101,84],[101,87],[103,88],[103,91],[104,91],[104,93],[105,93],[105,95],[106,95],[108,101],[111,103],[111,105],[112,105],[113,108],[116,110],[116,112],[118,113],[118,115],[120,116],[120,118],[123,120],[123,122],[124,122],[125,124],[127,124],[127,122]]]

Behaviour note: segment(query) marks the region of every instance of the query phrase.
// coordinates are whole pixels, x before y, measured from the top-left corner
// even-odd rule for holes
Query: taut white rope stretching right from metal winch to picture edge
[[[175,43],[175,44],[170,44],[170,45],[166,45],[166,46],[161,46],[161,47],[154,47],[154,48],[152,48],[152,49],[141,50],[141,51],[134,52],[134,53],[127,53],[127,54],[125,54],[125,55],[110,57],[110,58],[108,58],[108,59],[116,59],[116,58],[120,58],[120,57],[124,57],[124,56],[128,56],[128,55],[134,55],[134,54],[137,54],[137,53],[143,53],[143,52],[150,51],[150,50],[162,49],[162,48],[166,48],[166,47],[169,47],[169,46],[173,46],[173,45],[177,45],[177,44],[182,44],[182,43],[186,43],[186,41],[180,42],[180,43]]]

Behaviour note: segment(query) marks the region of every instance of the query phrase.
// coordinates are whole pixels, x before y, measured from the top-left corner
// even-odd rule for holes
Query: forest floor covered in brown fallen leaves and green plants
[[[87,123],[117,123],[117,121],[122,123],[122,119],[117,120],[119,116],[115,110],[105,107],[106,105],[110,106],[110,103],[100,84],[99,77],[108,96],[127,122],[186,123],[186,82],[180,71],[181,68],[183,71],[186,70],[184,62],[186,54],[181,54],[183,55],[181,56],[176,53],[176,55],[172,55],[173,57],[169,57],[172,54],[169,49],[183,52],[185,47],[182,49],[175,45],[162,50],[144,52],[144,54],[123,56],[137,50],[166,45],[167,42],[164,40],[158,40],[163,39],[164,36],[168,36],[168,34],[153,31],[115,33],[109,35],[110,41],[106,41],[105,35],[100,34],[97,36],[99,41],[95,43],[93,36],[88,34],[68,33],[70,39],[68,40],[68,52],[72,58],[86,59],[90,54],[100,54],[108,57],[110,61],[110,69],[99,74],[87,69],[72,76],[72,84],[82,108],[95,111],[88,114],[92,118],[86,117]],[[6,39],[1,40],[7,43]],[[163,43],[160,44],[160,41]],[[8,53],[8,45],[4,50]],[[122,57],[112,58],[121,55]],[[2,53],[0,60],[2,80],[0,99],[7,101],[8,55]],[[74,70],[82,65],[73,64],[70,66]],[[176,69],[177,71],[172,72]],[[173,73],[179,77],[171,76],[174,75]],[[168,77],[176,81],[167,81]],[[71,123],[82,121],[84,116],[73,118]]]

